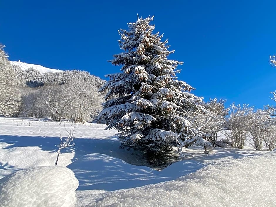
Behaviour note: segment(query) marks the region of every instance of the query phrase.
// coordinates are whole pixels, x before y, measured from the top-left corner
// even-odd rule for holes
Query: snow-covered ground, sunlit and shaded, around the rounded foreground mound
[[[62,125],[61,136],[70,126]],[[210,155],[191,147],[184,149],[185,160],[156,171],[141,153],[120,149],[116,131],[104,128],[78,124],[76,145],[59,156],[58,165],[79,181],[75,206],[276,206],[275,152],[248,143],[244,150],[216,148]],[[0,118],[0,178],[53,166],[59,134],[56,122]]]

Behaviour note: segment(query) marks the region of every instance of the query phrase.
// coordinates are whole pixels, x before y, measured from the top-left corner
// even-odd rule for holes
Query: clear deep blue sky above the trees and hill
[[[117,30],[155,16],[169,38],[169,59],[184,61],[179,80],[194,93],[262,108],[273,104],[276,1],[0,1],[0,42],[9,59],[48,68],[80,69],[104,78],[120,72]]]

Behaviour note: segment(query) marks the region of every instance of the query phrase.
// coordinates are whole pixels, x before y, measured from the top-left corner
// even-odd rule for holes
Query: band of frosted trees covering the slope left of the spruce
[[[0,115],[49,117],[92,121],[101,111],[105,83],[88,72],[72,70],[41,74],[29,68],[11,65],[4,46],[0,45]]]

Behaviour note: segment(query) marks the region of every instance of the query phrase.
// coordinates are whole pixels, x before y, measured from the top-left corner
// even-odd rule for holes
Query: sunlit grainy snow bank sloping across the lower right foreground
[[[270,152],[208,165],[175,181],[103,193],[88,206],[276,206],[275,159]]]

